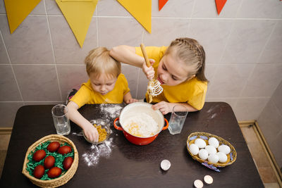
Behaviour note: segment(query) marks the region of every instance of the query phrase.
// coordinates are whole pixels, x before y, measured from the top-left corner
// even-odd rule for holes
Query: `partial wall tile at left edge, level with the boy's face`
[[[0,101],[22,101],[11,65],[0,65]]]

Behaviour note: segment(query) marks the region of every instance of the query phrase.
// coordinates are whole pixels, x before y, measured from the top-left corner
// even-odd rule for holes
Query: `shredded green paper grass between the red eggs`
[[[56,166],[56,167],[61,168],[61,170],[62,170],[61,175],[64,175],[66,173],[66,171],[68,171],[68,170],[65,170],[63,168],[63,160],[68,156],[73,158],[73,156],[74,156],[73,147],[68,143],[60,144],[60,146],[70,146],[71,147],[71,153],[66,153],[65,155],[62,155],[60,153],[57,153],[56,151],[55,152],[48,151],[47,146],[50,143],[51,143],[51,141],[47,141],[47,142],[44,142],[42,144],[39,144],[39,146],[37,146],[35,148],[35,151],[37,151],[39,149],[43,149],[46,152],[46,156],[41,161],[39,161],[39,162],[33,161],[32,156],[33,156],[33,153],[35,153],[35,151],[31,151],[30,154],[27,156],[28,163],[27,163],[26,170],[27,170],[28,173],[30,173],[30,175],[33,176],[33,171],[35,170],[35,167],[37,167],[37,165],[43,165],[44,166],[44,160],[47,156],[54,156],[54,158],[55,158],[54,167]],[[54,180],[54,178],[48,177],[48,175],[47,175],[48,170],[49,169],[45,170],[44,175],[40,178],[40,180]],[[61,175],[59,175],[59,177],[61,177]],[[58,177],[56,177],[56,178],[58,178]]]

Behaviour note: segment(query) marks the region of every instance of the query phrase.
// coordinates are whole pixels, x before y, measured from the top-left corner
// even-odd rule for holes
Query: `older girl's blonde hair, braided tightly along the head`
[[[175,53],[180,61],[193,67],[194,70],[190,71],[188,78],[192,75],[196,75],[199,80],[208,82],[207,78],[204,76],[204,61],[206,56],[203,47],[197,40],[187,37],[175,39],[171,42],[171,45],[168,46],[164,55],[172,52]]]

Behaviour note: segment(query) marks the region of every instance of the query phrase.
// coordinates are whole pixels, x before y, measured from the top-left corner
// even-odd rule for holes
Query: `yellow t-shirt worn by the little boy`
[[[92,89],[91,82],[88,80],[83,83],[78,92],[71,98],[79,108],[85,104],[121,104],[123,96],[130,91],[128,81],[123,74],[118,75],[114,89],[102,95]]]

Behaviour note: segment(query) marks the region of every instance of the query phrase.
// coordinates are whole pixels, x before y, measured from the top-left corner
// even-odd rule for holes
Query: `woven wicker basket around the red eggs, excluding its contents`
[[[39,144],[42,144],[44,142],[59,142],[60,144],[64,144],[64,143],[68,143],[72,146],[73,148],[73,152],[74,152],[74,156],[73,156],[73,164],[71,165],[71,168],[68,169],[68,171],[66,171],[65,174],[61,175],[61,177],[58,177],[54,180],[39,180],[35,177],[33,177],[32,175],[30,175],[30,173],[28,173],[28,171],[26,170],[27,168],[27,163],[28,163],[28,159],[27,156],[30,154],[31,151],[34,151],[35,148],[37,146],[39,146]],[[25,161],[23,163],[23,175],[25,175],[28,179],[30,179],[30,181],[33,184],[36,184],[39,187],[59,187],[63,184],[66,184],[66,182],[68,182],[68,180],[71,180],[71,178],[73,177],[73,175],[75,174],[76,170],[78,169],[78,150],[75,147],[75,144],[73,144],[73,142],[68,139],[67,137],[63,137],[61,135],[58,134],[50,134],[46,137],[43,137],[42,139],[37,140],[37,142],[35,142],[34,144],[32,144],[28,149],[27,152],[25,154]]]

